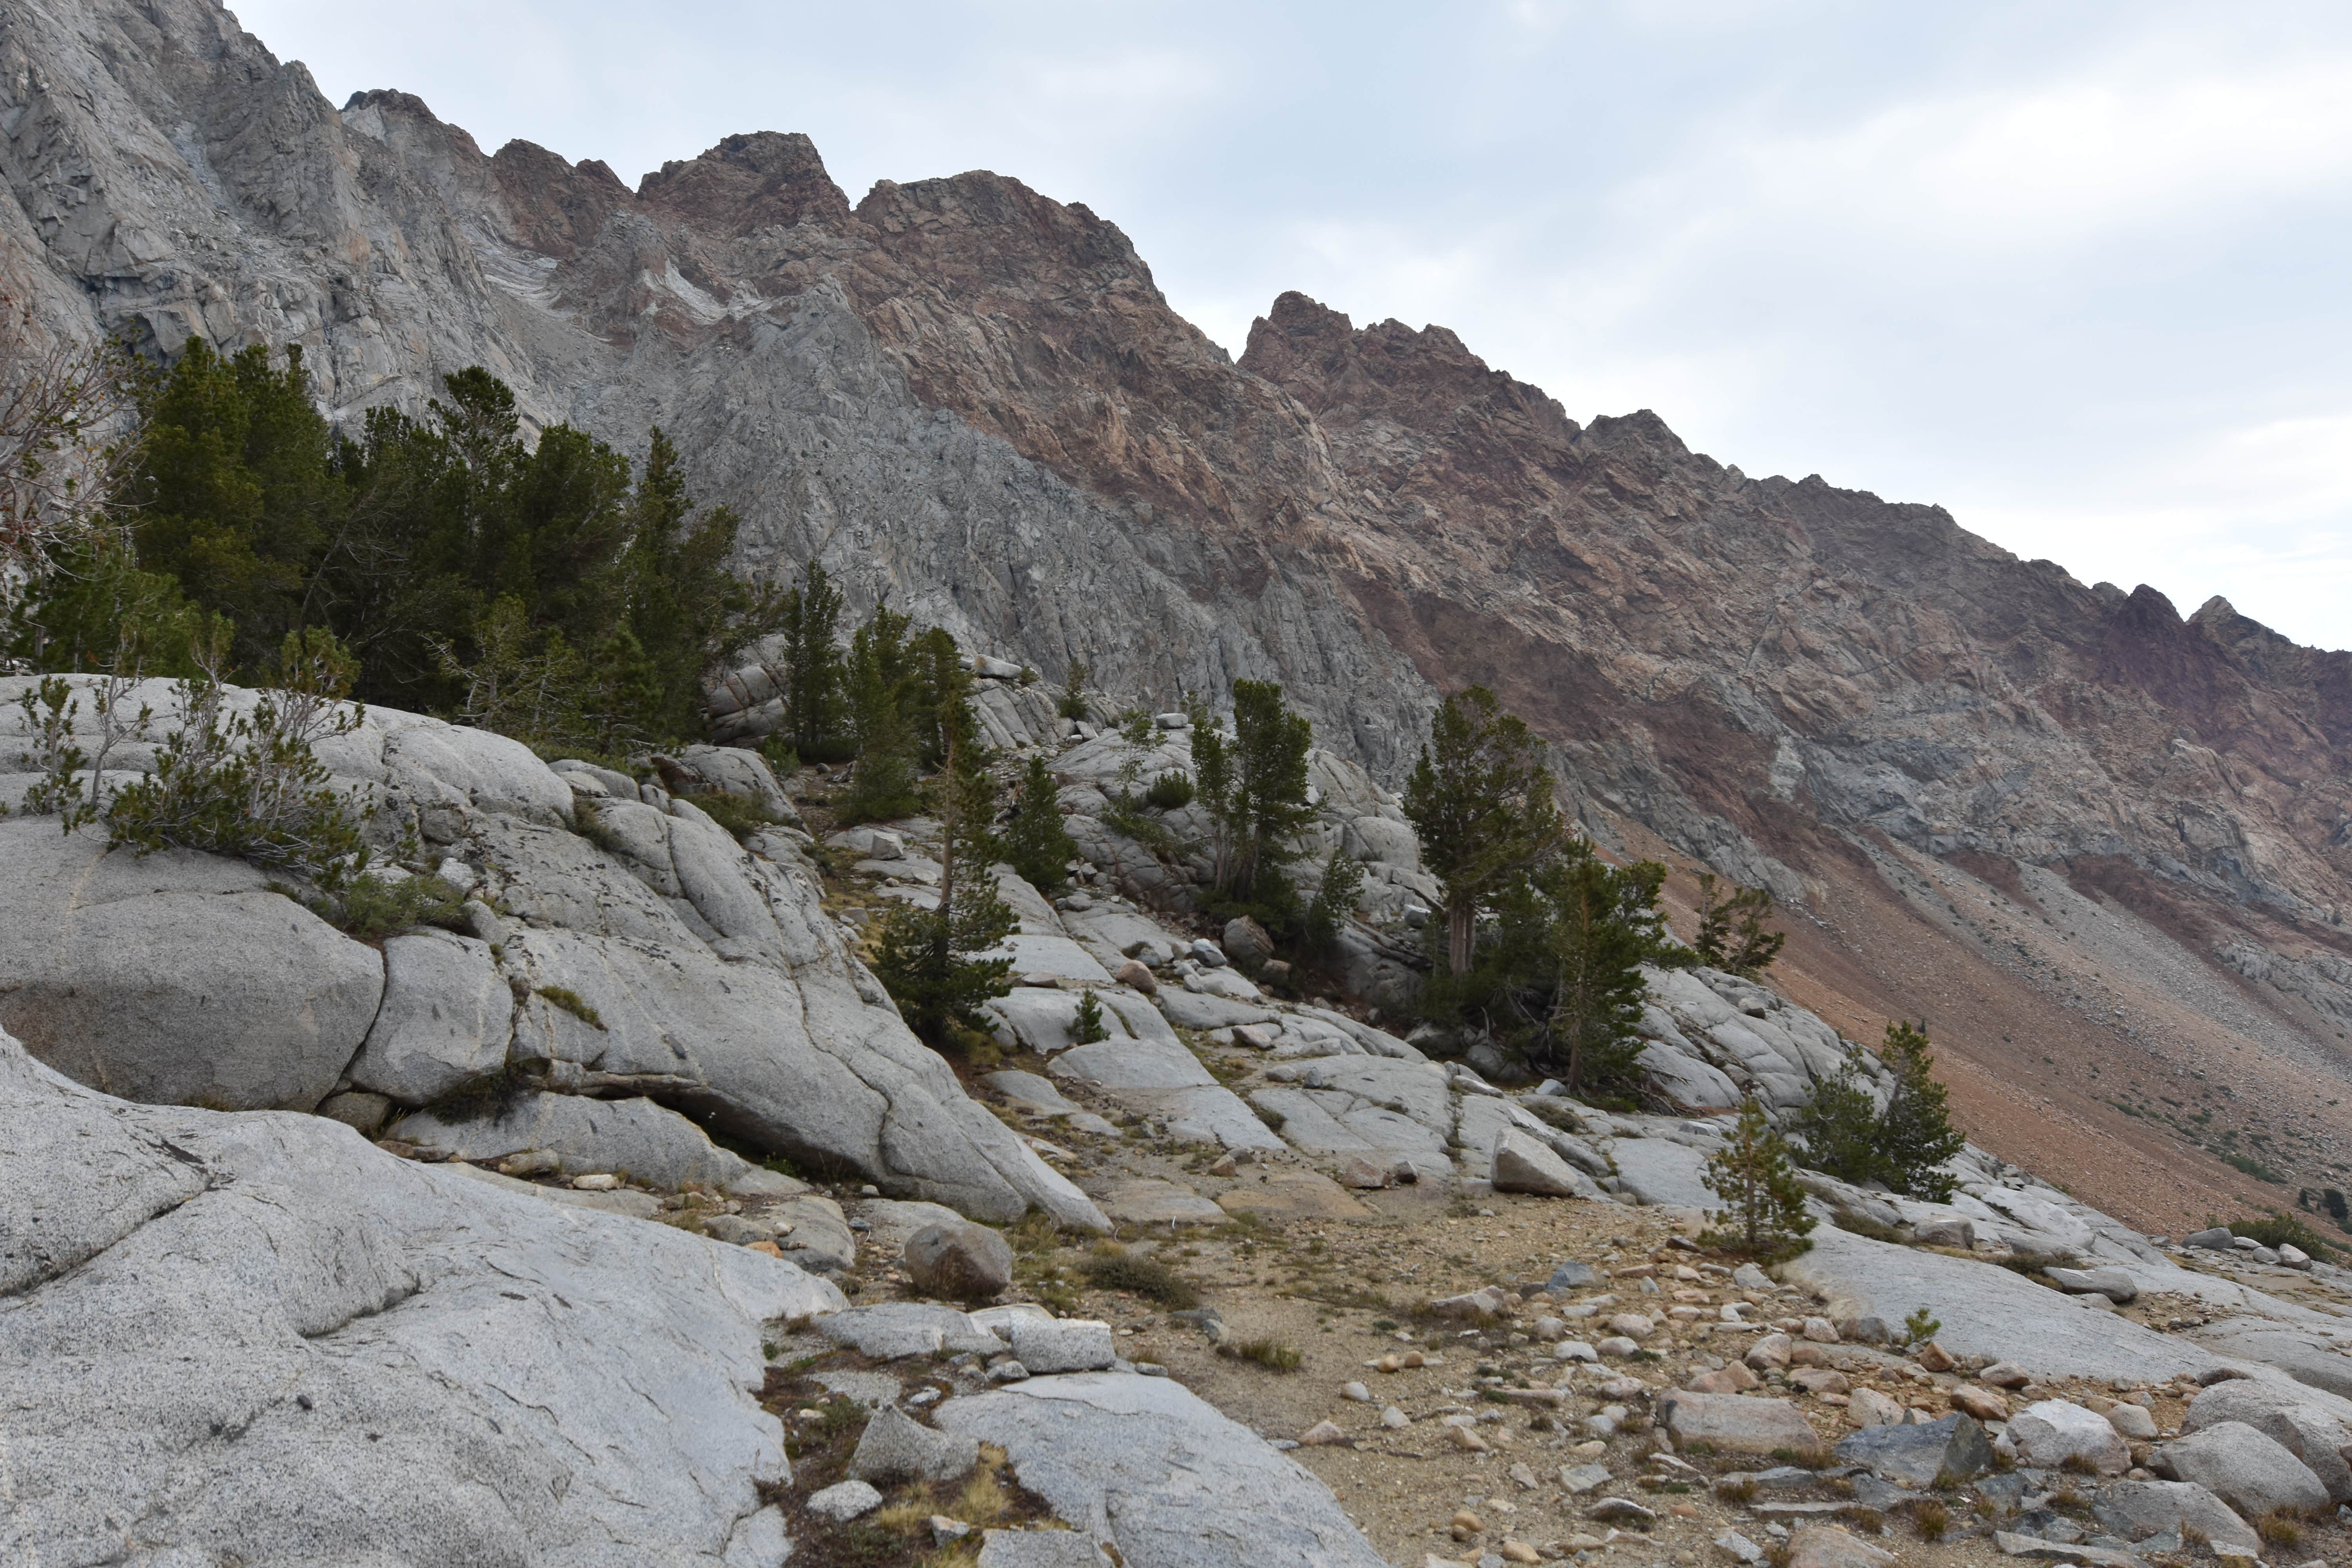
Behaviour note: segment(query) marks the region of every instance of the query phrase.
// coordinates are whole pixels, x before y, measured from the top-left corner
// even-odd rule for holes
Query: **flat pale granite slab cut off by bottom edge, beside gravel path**
[[[938,1406],[1129,1568],[1383,1568],[1310,1469],[1167,1378],[1030,1378]]]

